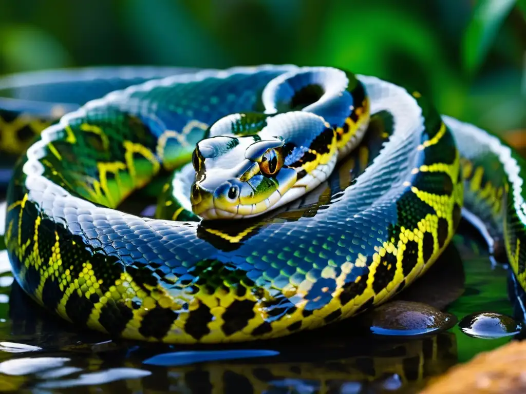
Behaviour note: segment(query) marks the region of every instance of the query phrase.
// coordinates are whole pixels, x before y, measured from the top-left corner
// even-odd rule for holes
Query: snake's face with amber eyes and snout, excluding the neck
[[[238,219],[261,214],[275,205],[296,182],[284,166],[284,141],[257,134],[217,136],[197,143],[192,210],[204,219]]]

